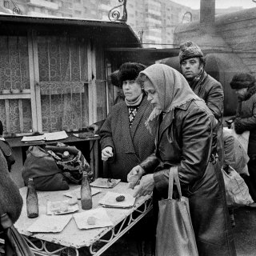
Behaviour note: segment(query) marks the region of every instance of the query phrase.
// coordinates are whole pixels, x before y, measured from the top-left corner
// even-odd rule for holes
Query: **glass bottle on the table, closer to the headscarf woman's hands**
[[[82,173],[81,206],[83,210],[90,210],[93,206],[88,174],[85,171]]]

